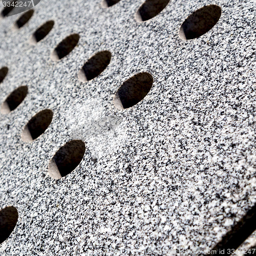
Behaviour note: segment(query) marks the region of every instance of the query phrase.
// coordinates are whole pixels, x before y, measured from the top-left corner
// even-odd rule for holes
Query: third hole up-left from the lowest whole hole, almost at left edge
[[[17,106],[23,102],[27,94],[28,94],[27,86],[21,86],[15,89],[3,102],[1,106],[1,113],[8,114],[11,111],[15,110]]]

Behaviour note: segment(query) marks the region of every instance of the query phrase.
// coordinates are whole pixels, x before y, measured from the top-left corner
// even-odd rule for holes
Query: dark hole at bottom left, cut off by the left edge
[[[0,244],[3,243],[15,228],[18,220],[18,211],[13,206],[0,210]]]

